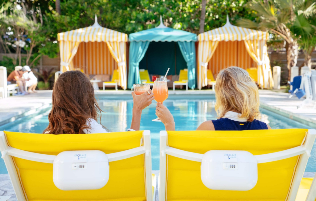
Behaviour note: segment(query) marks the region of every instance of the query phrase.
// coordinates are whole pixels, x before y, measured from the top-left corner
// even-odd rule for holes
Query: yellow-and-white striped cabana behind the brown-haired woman
[[[74,66],[88,74],[112,74],[119,69],[119,86],[126,89],[127,34],[101,27],[95,16],[90,27],[58,33],[58,41],[61,72]]]

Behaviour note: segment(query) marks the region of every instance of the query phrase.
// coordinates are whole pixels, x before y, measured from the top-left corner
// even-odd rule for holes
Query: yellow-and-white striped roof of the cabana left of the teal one
[[[58,41],[72,42],[127,42],[127,34],[101,27],[95,16],[94,24],[90,27],[78,28],[58,33]]]

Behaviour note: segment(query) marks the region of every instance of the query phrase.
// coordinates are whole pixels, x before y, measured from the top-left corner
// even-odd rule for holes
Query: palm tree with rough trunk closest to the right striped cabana
[[[259,22],[241,19],[237,23],[242,27],[256,28],[278,34],[287,42],[288,80],[291,67],[296,66],[299,52],[298,38],[293,33],[293,25],[299,14],[310,15],[315,12],[313,0],[251,0],[247,6],[254,10]],[[304,24],[304,26],[311,26]]]

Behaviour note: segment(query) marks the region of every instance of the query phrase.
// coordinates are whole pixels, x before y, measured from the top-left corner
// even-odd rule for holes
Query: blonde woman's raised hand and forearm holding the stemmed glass
[[[160,121],[165,125],[166,130],[175,130],[175,123],[171,112],[166,106],[161,103],[157,103],[156,115]]]

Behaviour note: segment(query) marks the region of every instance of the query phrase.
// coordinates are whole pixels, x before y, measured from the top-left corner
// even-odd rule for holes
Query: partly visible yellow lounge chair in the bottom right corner
[[[295,201],[316,200],[316,175],[314,178],[303,178]]]

